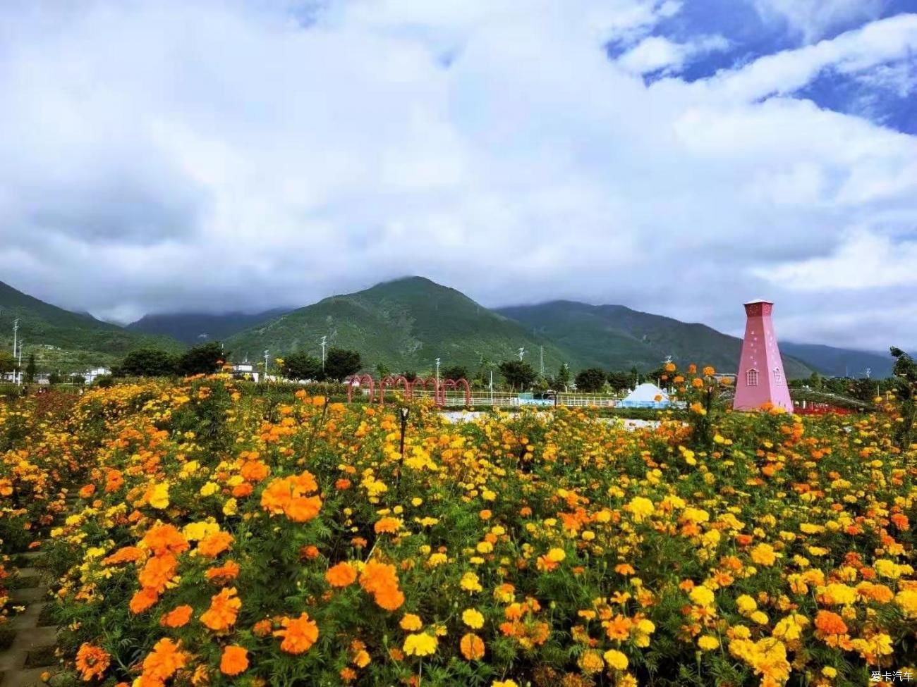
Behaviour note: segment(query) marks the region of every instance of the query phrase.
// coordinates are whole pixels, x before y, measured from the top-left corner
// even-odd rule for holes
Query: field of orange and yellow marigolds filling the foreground
[[[917,678],[917,450],[893,415],[724,413],[707,444],[414,405],[403,452],[401,420],[221,376],[10,401],[0,536],[43,541],[89,684]]]

